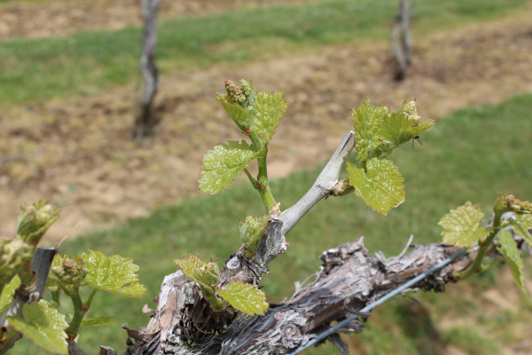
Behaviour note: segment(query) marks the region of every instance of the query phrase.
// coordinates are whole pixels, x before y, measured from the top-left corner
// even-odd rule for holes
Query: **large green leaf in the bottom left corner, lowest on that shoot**
[[[68,327],[65,316],[52,308],[48,302],[24,304],[24,318],[6,317],[12,327],[33,340],[47,351],[67,354],[65,329]]]

